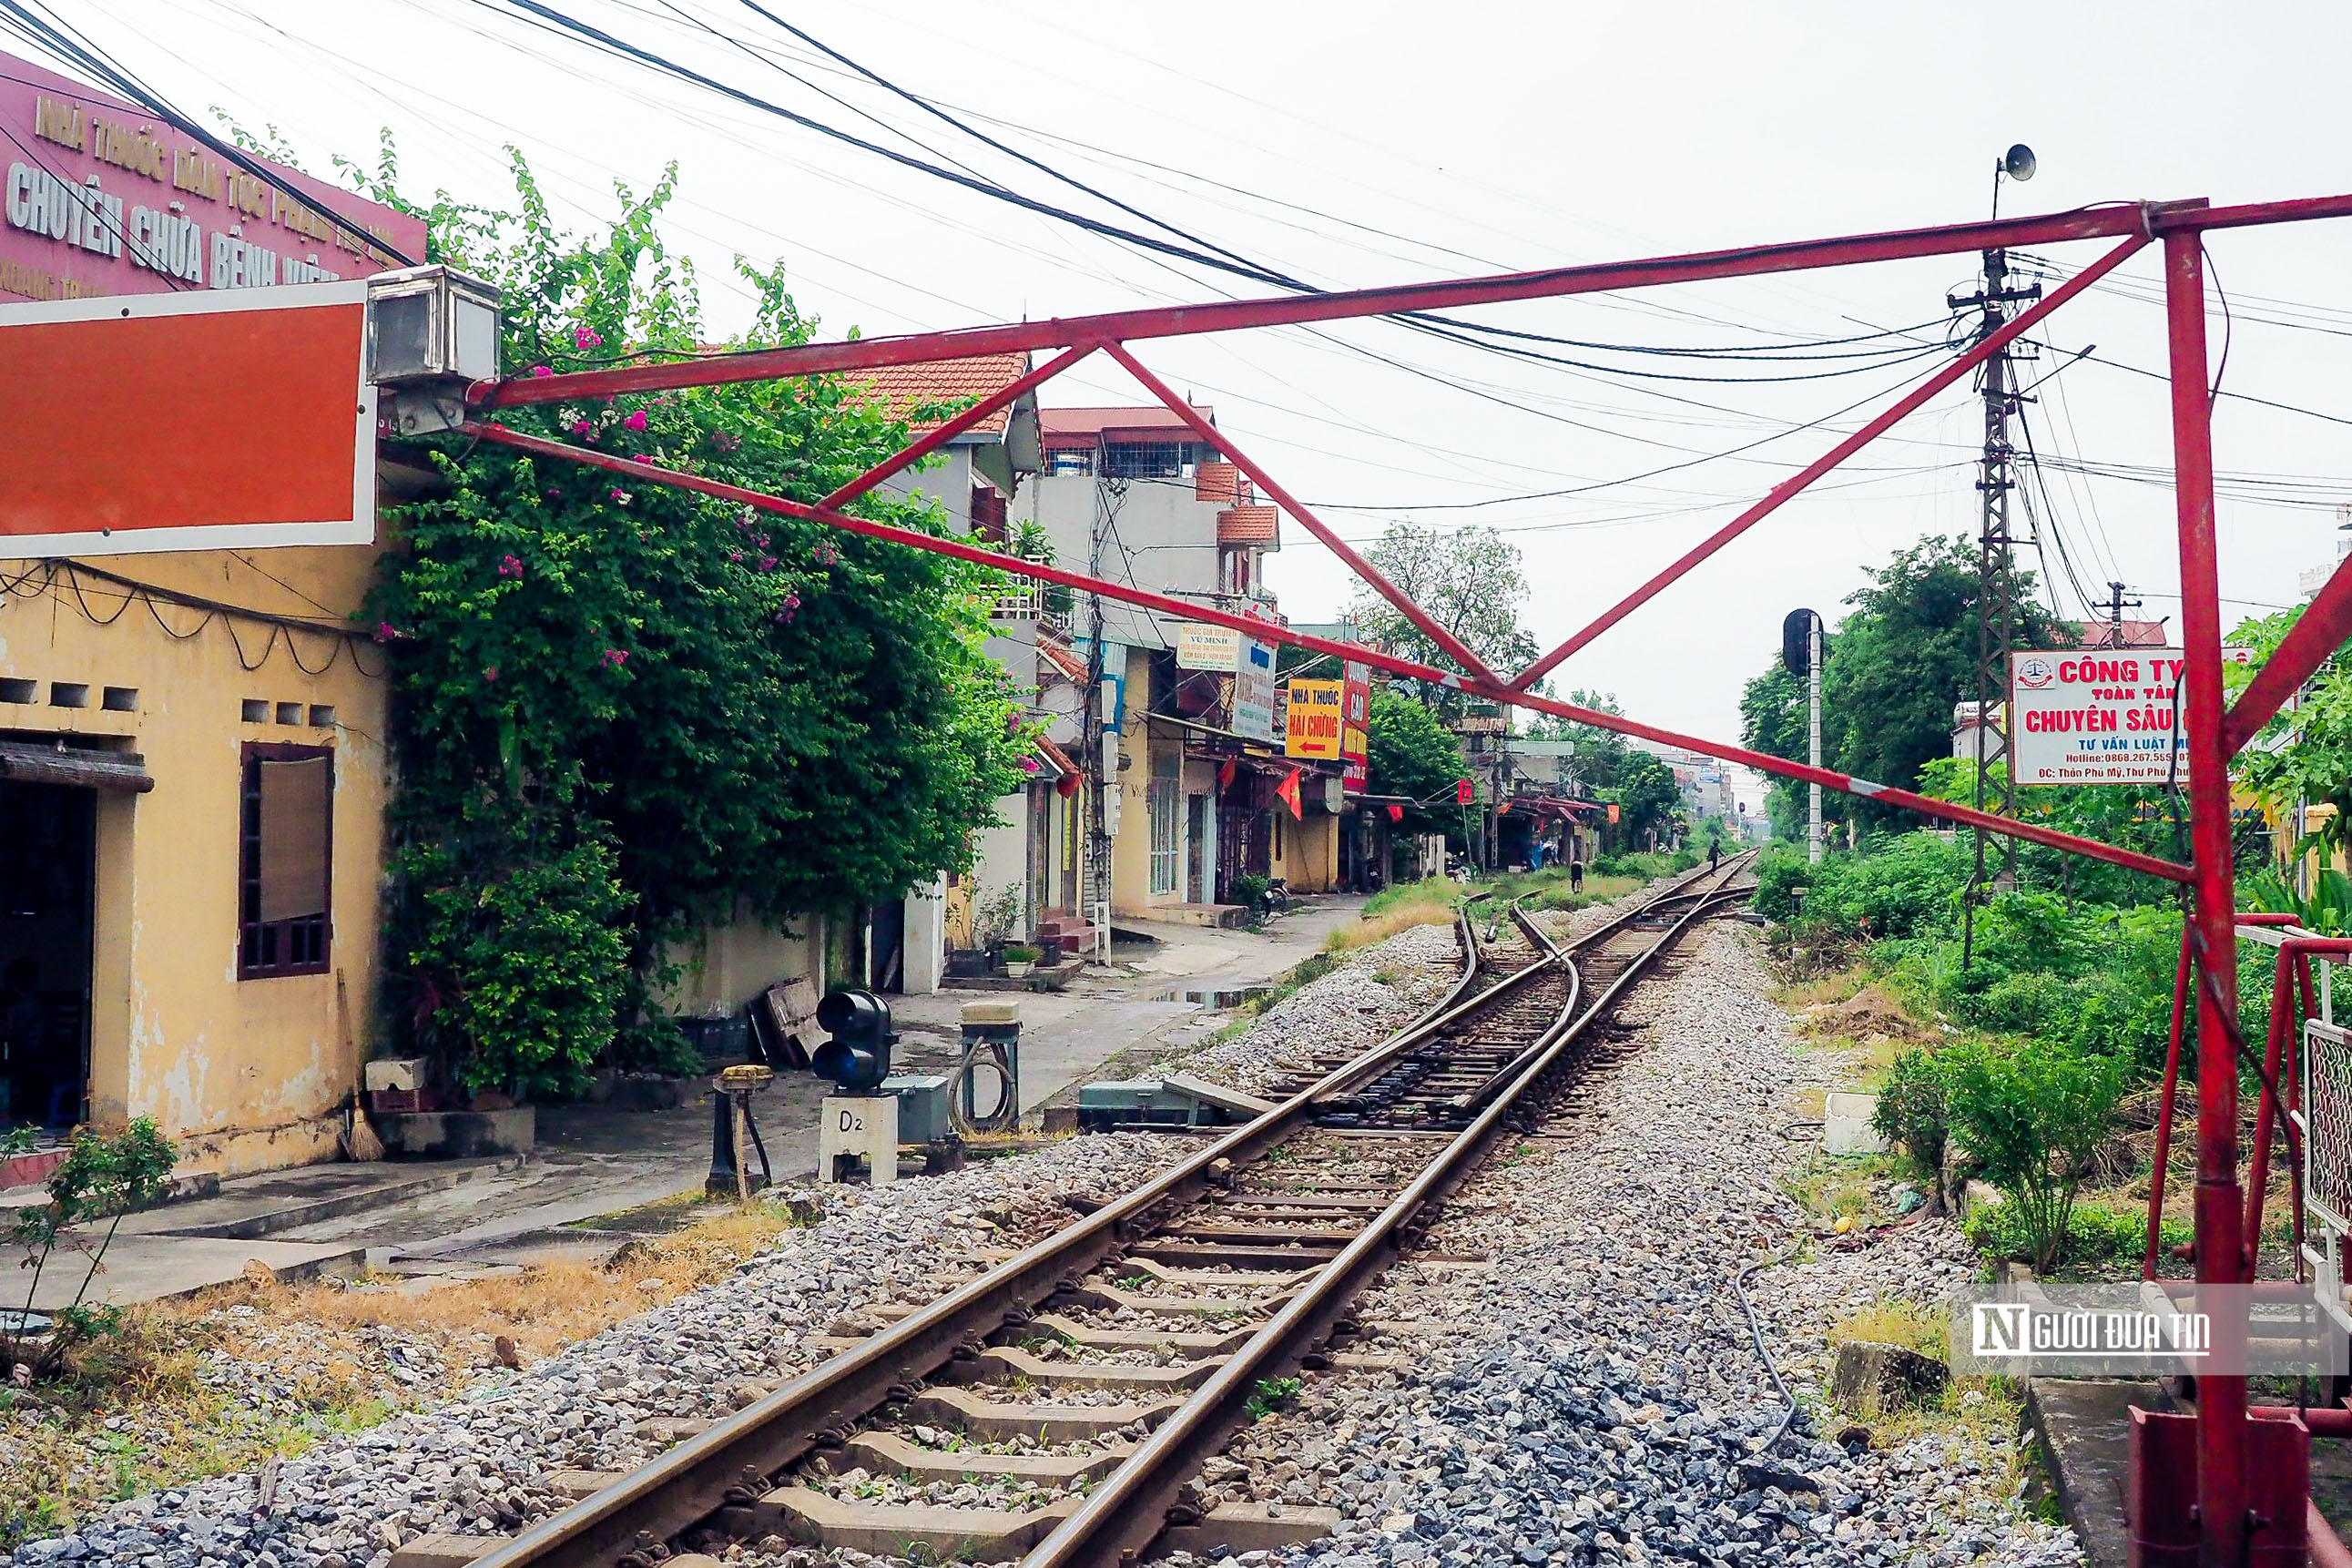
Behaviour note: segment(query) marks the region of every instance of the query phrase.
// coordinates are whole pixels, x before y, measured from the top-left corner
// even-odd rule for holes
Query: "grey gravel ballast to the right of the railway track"
[[[1581,912],[1592,917],[1590,910]],[[1639,1048],[1503,1145],[1425,1253],[1355,1314],[1397,1371],[1310,1378],[1204,1472],[1207,1502],[1322,1502],[1341,1530],[1282,1554],[1317,1568],[1470,1563],[2079,1563],[2072,1530],[2016,1502],[2006,1429],[1922,1422],[1851,1455],[1785,1413],[1733,1274],[1790,1251],[1780,1128],[1823,1058],[1799,1051],[1748,929],[1689,938],[1628,999]],[[1950,1225],[1882,1232],[1750,1284],[1783,1373],[1828,1408],[1823,1335],[1879,1298],[1943,1300],[1971,1272]],[[1966,1396],[1964,1396],[1966,1399]]]

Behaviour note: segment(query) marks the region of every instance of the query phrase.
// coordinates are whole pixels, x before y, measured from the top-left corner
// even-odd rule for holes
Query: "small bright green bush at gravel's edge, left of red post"
[[[2049,1269],[2067,1234],[2074,1194],[2114,1133],[2124,1063],[2049,1041],[2032,1048],[1964,1039],[1938,1060],[1952,1138],[2002,1190],[2025,1232],[2027,1260]]]

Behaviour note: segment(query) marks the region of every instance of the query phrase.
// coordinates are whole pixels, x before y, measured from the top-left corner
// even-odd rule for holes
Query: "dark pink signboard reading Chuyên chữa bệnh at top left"
[[[0,303],[334,282],[402,266],[388,252],[426,259],[423,219],[254,162],[334,216],[132,103],[0,54]]]

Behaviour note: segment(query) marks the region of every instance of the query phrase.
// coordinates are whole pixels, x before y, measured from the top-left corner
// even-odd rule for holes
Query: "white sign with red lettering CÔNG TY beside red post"
[[[2225,649],[2223,658],[2244,661]],[[2009,656],[2009,715],[2020,785],[2187,783],[2180,649],[2044,649]],[[2173,762],[2178,757],[2178,773]]]

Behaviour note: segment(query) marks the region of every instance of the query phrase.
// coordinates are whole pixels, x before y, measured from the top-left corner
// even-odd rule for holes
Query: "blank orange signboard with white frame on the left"
[[[0,306],[0,557],[372,543],[367,284]]]

